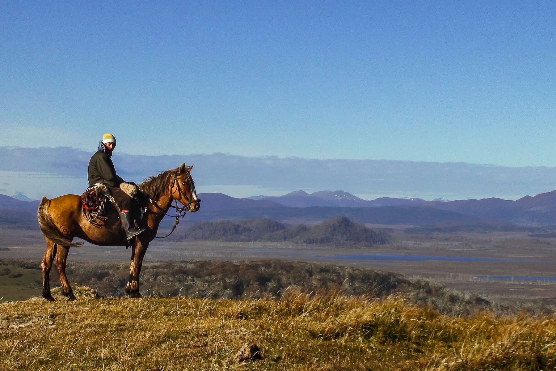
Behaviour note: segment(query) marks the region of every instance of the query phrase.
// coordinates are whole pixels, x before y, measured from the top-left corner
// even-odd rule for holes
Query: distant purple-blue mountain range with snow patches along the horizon
[[[515,225],[556,225],[556,191],[525,196],[517,201],[497,198],[425,201],[394,197],[369,201],[340,190],[313,194],[295,191],[277,197],[256,196],[260,199],[236,199],[221,193],[203,193],[198,197],[201,199],[201,210],[187,215],[183,221],[188,224],[202,220],[255,218],[287,224],[316,224],[343,215],[361,224],[407,224],[427,226],[429,229],[436,224],[444,224],[443,228],[451,230],[465,230],[470,226],[481,229],[478,226],[481,223],[492,230],[515,230]],[[26,212],[28,218],[35,221],[38,204],[39,201],[22,201],[0,194],[0,209]],[[4,213],[4,219],[6,215],[12,214]],[[22,217],[24,214],[18,216],[19,219]],[[166,218],[162,226],[169,220]],[[485,220],[490,222],[481,222]],[[0,221],[0,224],[5,223]]]

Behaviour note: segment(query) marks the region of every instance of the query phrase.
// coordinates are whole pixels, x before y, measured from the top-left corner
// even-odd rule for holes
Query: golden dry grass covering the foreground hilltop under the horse
[[[56,292],[54,292],[56,294]],[[0,304],[0,370],[547,370],[556,319],[454,318],[389,298],[35,298]],[[245,344],[263,359],[238,363]]]

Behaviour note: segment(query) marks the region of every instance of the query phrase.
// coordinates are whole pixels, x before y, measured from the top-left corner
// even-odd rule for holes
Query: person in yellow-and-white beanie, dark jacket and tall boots
[[[98,151],[91,157],[89,161],[88,179],[89,185],[95,183],[105,184],[116,204],[120,207],[120,220],[122,221],[122,228],[126,233],[126,238],[131,240],[133,237],[142,233],[142,229],[135,226],[135,220],[131,215],[131,197],[126,192],[120,189],[120,184],[125,182],[121,177],[116,174],[114,164],[110,157],[112,151],[116,147],[116,138],[112,134],[105,134],[102,136],[102,141],[98,142]]]

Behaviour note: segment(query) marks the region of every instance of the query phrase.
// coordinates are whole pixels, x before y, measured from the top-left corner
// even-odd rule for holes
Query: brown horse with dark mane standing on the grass
[[[192,167],[185,167],[183,164],[177,169],[148,177],[140,185],[141,190],[150,196],[152,202],[148,204],[147,210],[138,222],[146,231],[136,236],[135,243],[132,241],[131,244],[130,277],[126,285],[126,293],[132,298],[141,297],[138,281],[143,256],[148,244],[155,238],[158,224],[170,209],[172,201],[180,201],[184,211],[199,210],[200,200],[197,199],[195,184],[190,175]],[[78,237],[100,246],[127,246],[116,210],[111,209],[101,229],[85,219],[81,210],[81,197],[77,195],[64,195],[52,200],[45,196],[38,208],[39,225],[46,238],[46,253],[41,264],[42,297],[48,301],[54,300],[49,281],[54,257],[56,257],[56,269],[62,284],[62,294],[68,296],[68,300],[76,299],[66,276],[66,259],[71,246],[81,246],[83,243],[72,243],[73,238]]]

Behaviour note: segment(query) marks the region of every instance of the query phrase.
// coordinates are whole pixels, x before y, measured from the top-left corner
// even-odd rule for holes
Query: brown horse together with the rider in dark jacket
[[[123,215],[121,215],[121,218],[122,222],[127,222],[125,230],[126,236],[129,236],[127,231],[133,229],[133,218],[128,211],[130,204],[126,202],[129,199],[126,197],[127,195],[123,196],[119,192],[120,189],[116,187],[118,183],[122,182],[122,179],[116,175],[114,165],[110,159],[112,150],[116,145],[116,139],[113,135],[107,134],[102,138],[102,141],[99,152],[91,158],[89,180],[91,184],[97,181],[105,182],[102,188],[110,186],[115,196],[113,198],[117,197],[118,205],[122,208]],[[176,206],[174,206],[176,207],[176,221],[178,217],[185,215],[185,212],[195,212],[200,208],[201,200],[197,198],[195,192],[195,182],[193,182],[190,174],[191,169],[193,169],[193,165],[185,166],[184,163],[176,169],[166,170],[156,176],[150,176],[141,183],[141,192],[149,198],[149,202],[141,218],[141,226],[146,229],[145,233],[141,233],[141,230],[138,229],[131,230],[132,235],[140,233],[135,237],[134,243],[131,244],[130,276],[126,284],[126,293],[132,298],[141,298],[139,275],[143,257],[148,245],[156,237],[158,226],[162,218],[167,215],[172,202],[176,202]],[[123,187],[127,186],[123,185]],[[180,202],[183,207],[178,209],[177,202]],[[127,214],[125,214],[126,211]],[[56,269],[62,285],[62,294],[68,296],[68,300],[76,300],[66,275],[69,249],[72,246],[83,244],[82,242],[73,242],[74,238],[80,238],[98,246],[130,245],[126,244],[126,236],[122,234],[122,229],[118,225],[116,213],[108,212],[106,214],[107,223],[99,228],[98,225],[93,224],[90,219],[83,216],[83,199],[78,195],[63,195],[52,200],[46,196],[42,197],[37,217],[41,233],[46,239],[46,251],[44,251],[41,268],[42,297],[48,301],[54,300],[50,291],[50,270],[54,259],[56,259]]]

